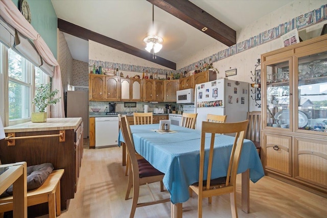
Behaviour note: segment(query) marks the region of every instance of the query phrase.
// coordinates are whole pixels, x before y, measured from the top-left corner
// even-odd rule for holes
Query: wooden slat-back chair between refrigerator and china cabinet
[[[246,130],[245,138],[254,143],[256,151],[258,151],[258,154],[260,155],[261,111],[247,112],[247,119],[249,120],[249,125]]]

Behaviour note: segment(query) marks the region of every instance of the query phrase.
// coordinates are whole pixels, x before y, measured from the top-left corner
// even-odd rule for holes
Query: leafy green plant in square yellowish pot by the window
[[[58,90],[51,91],[51,83],[41,84],[37,88],[32,104],[35,105],[35,111],[32,112],[32,122],[42,123],[46,122],[48,114],[45,112],[45,108],[50,105],[55,105],[59,102],[61,97],[55,98],[58,94]]]

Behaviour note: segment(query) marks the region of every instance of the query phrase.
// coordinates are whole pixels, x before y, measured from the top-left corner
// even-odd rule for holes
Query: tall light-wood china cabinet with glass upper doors
[[[261,55],[266,175],[327,196],[327,35]]]

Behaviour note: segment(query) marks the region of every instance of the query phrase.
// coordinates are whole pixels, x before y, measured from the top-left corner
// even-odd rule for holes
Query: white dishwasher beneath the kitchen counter
[[[96,148],[117,146],[118,116],[96,117]]]

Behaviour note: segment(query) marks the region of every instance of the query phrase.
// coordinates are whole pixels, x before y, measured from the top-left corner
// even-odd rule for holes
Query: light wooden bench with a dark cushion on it
[[[33,206],[41,203],[49,203],[49,218],[56,217],[61,213],[60,208],[60,179],[64,169],[53,171],[45,182],[38,188],[27,192],[27,206]],[[0,217],[3,213],[13,209],[13,197],[7,196],[0,198]]]

